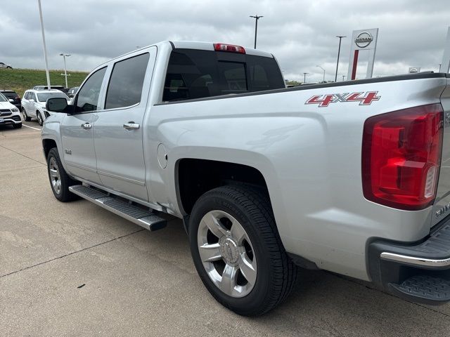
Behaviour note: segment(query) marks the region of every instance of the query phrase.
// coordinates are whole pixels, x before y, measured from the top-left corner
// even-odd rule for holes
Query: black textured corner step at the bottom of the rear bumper
[[[401,284],[389,284],[401,298],[423,304],[436,305],[450,301],[450,280],[429,275],[409,277]]]

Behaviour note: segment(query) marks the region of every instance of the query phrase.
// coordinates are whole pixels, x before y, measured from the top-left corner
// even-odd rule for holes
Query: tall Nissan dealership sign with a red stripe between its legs
[[[352,44],[350,45],[350,62],[347,79],[356,79],[356,68],[358,66],[359,51],[368,51],[368,62],[366,79],[373,74],[373,63],[375,62],[375,51],[377,48],[378,28],[354,30]]]

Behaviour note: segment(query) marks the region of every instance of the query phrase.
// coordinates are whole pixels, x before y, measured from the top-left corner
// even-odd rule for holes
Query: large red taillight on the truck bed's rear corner
[[[440,104],[371,117],[364,123],[363,191],[396,209],[425,209],[435,199],[442,152]]]

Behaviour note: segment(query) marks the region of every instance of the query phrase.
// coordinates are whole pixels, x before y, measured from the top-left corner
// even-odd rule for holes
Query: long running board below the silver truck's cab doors
[[[150,210],[117,199],[113,195],[105,194],[94,188],[84,185],[75,185],[69,187],[69,190],[70,192],[79,195],[79,197],[89,200],[94,204],[103,207],[103,209],[108,209],[108,211],[111,211],[118,216],[122,216],[122,218],[130,220],[147,230],[160,230],[167,225],[167,220],[165,218],[155,215],[155,213],[152,213]]]

